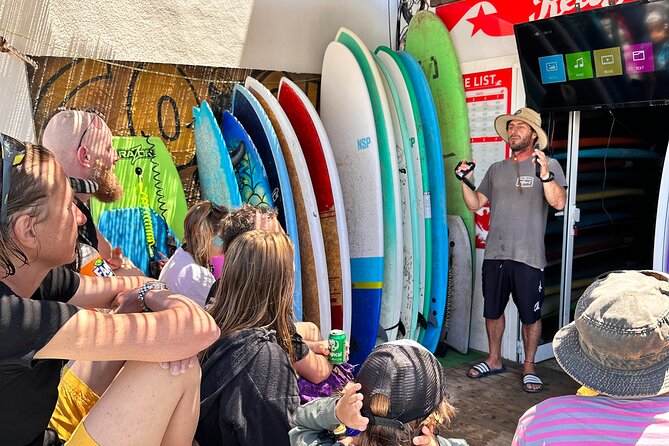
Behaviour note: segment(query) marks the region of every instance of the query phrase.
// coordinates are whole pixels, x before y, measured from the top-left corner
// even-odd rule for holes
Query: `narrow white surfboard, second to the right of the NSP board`
[[[406,133],[409,143],[408,150],[405,147],[406,156],[411,159],[410,164],[413,168],[413,184],[415,187],[415,210],[418,217],[418,246],[414,247],[414,256],[418,256],[418,297],[414,297],[412,300],[402,301],[402,312],[400,319],[404,325],[406,335],[405,337],[416,339],[417,334],[415,334],[416,326],[418,323],[418,313],[422,311],[423,302],[425,301],[425,268],[426,268],[426,244],[425,244],[425,205],[424,205],[424,196],[423,196],[423,172],[421,168],[421,156],[420,148],[418,142],[418,129],[416,128],[416,118],[414,116],[413,106],[411,104],[411,95],[413,93],[409,92],[409,87],[405,81],[405,76],[402,73],[404,69],[403,66],[400,66],[398,63],[398,56],[394,51],[387,47],[380,46],[376,49],[376,55],[383,62],[386,67],[387,73],[390,76],[390,79],[395,86],[395,90],[400,101],[400,107],[402,109],[402,114],[404,115],[404,121],[406,124]],[[406,144],[406,143],[405,143]],[[409,163],[407,163],[408,165]],[[425,173],[427,176],[427,173]],[[414,296],[416,296],[414,291]],[[415,302],[415,303],[414,303]]]

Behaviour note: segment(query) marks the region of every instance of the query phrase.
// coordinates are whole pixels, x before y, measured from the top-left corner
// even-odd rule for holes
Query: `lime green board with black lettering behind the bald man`
[[[142,206],[146,200],[181,239],[188,205],[165,143],[151,136],[116,136],[112,145],[119,156],[114,172],[123,185],[123,197],[114,203],[91,198],[93,220],[99,223],[104,211]]]

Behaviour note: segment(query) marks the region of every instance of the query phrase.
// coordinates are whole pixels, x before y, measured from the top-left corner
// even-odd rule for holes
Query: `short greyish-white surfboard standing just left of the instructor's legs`
[[[467,226],[459,215],[448,217],[449,267],[452,280],[448,288],[450,312],[444,324],[442,340],[457,352],[469,352],[469,328],[472,317],[472,247]]]

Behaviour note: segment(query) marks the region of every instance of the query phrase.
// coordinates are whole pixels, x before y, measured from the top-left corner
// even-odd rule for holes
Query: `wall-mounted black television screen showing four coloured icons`
[[[669,0],[514,26],[527,105],[537,111],[669,104]]]

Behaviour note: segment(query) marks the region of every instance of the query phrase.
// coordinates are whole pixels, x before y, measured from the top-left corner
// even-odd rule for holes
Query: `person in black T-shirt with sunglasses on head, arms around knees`
[[[66,444],[190,444],[199,368],[190,363],[173,375],[158,363],[210,345],[219,333],[213,320],[155,282],[113,302],[86,289],[115,286],[108,278],[84,280],[61,269],[49,287],[40,287],[49,271],[74,260],[77,226],[86,219],[51,152],[2,134],[0,146],[0,442],[63,444],[47,425],[62,366],[74,359],[126,362],[101,396],[81,386],[90,406]],[[99,306],[146,312],[84,308]]]

